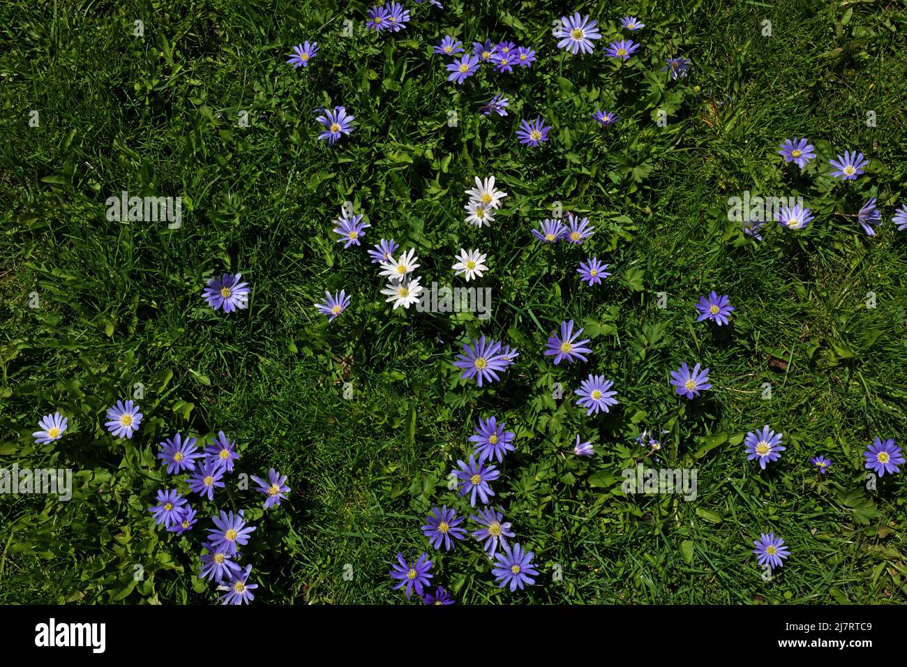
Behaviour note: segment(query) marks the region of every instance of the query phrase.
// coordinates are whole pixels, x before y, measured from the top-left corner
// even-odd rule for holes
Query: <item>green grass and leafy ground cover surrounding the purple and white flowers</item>
[[[907,233],[890,221],[905,200],[903,8],[406,5],[413,22],[379,37],[364,31],[364,3],[345,15],[255,0],[0,9],[0,467],[72,467],[76,479],[69,503],[4,497],[0,602],[213,602],[212,586],[193,585],[198,535],[156,530],[147,507],[172,484],[157,443],[221,429],[239,443],[241,471],[274,466],[293,489],[264,516],[257,495],[219,492],[216,506],[245,507],[258,525],[246,562],[259,602],[405,602],[386,575],[395,554],[427,547],[419,526],[432,505],[469,509],[446,476],[478,417],[495,414],[517,434],[496,500],[543,574],[528,593],[502,592],[470,540],[434,567],[458,601],[903,603],[903,474],[867,490],[861,456],[875,436],[907,441]],[[561,54],[551,37],[574,9],[605,24],[591,56]],[[628,14],[647,25],[634,35],[643,46],[617,68],[603,51]],[[531,44],[539,62],[456,86],[427,55],[444,34]],[[286,54],[305,39],[321,51],[294,71]],[[666,83],[658,68],[672,48],[693,64]],[[511,114],[479,116],[498,92]],[[335,104],[356,131],[330,148],[312,110]],[[596,126],[599,108],[619,123]],[[525,149],[513,132],[537,113],[551,141]],[[803,176],[775,154],[794,136],[819,153]],[[870,167],[835,184],[827,161],[845,149]],[[463,192],[491,174],[509,196],[478,231],[463,224]],[[107,221],[104,201],[122,190],[182,196],[181,228]],[[727,221],[727,199],[744,191],[802,196],[816,220],[807,231],[767,224],[756,243]],[[834,215],[871,196],[884,220],[872,239]],[[424,283],[462,285],[453,254],[488,252],[491,319],[392,312],[365,249],[334,241],[343,201],[366,213],[369,246],[393,237],[417,249]],[[595,225],[580,248],[532,239],[555,201]],[[614,272],[600,289],[580,286],[587,255]],[[228,270],[254,293],[224,316],[200,290]],[[353,295],[330,325],[313,308],[325,289]],[[709,289],[731,295],[729,334],[694,322]],[[592,335],[589,363],[542,357],[561,319]],[[521,352],[482,390],[451,366],[480,332]],[[711,368],[715,385],[691,403],[668,385],[683,361]],[[615,381],[608,416],[551,398],[553,382],[569,397],[590,372]],[[136,383],[145,420],[115,441],[104,410]],[[55,409],[70,430],[33,445]],[[766,472],[739,444],[763,424],[787,446]],[[697,469],[695,501],[620,491],[646,427],[669,431],[662,466]],[[590,461],[569,454],[578,434],[596,445]],[[834,460],[821,487],[808,463],[818,453]],[[792,556],[766,582],[750,550],[769,531]]]

